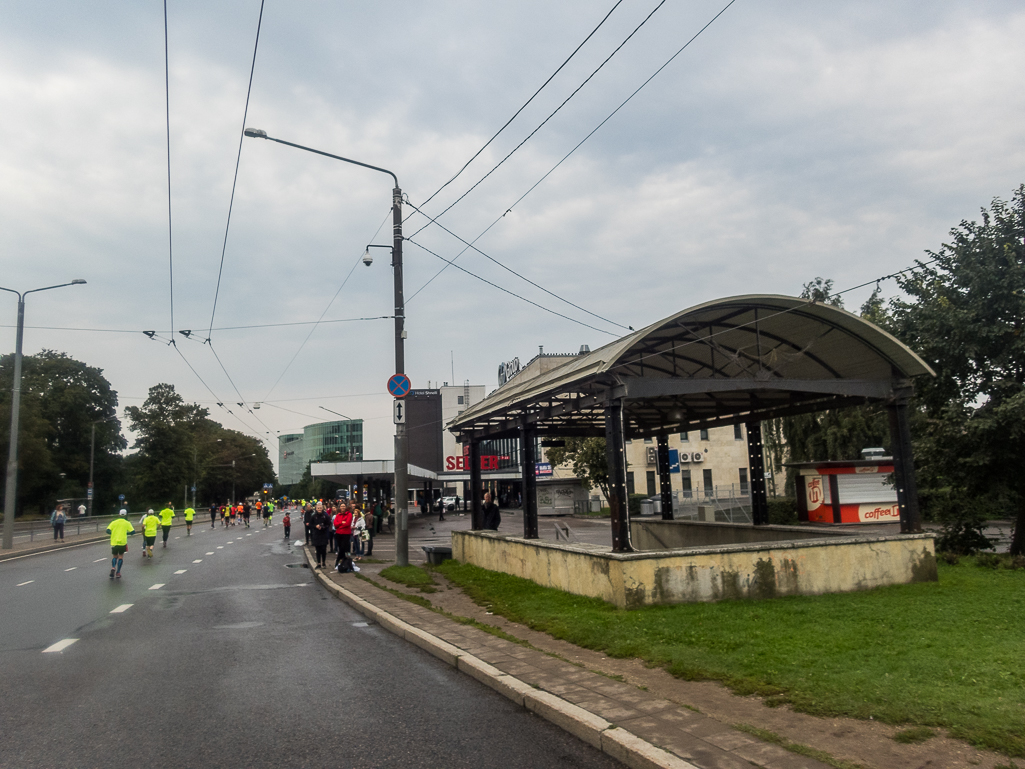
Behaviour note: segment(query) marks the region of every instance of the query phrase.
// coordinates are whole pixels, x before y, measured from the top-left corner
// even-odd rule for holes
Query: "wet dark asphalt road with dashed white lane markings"
[[[367,624],[280,525],[194,532],[118,581],[107,544],[0,563],[0,767],[620,766]]]

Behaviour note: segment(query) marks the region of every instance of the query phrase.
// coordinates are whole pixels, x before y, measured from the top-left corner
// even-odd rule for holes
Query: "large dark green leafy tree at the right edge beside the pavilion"
[[[920,485],[1015,515],[1025,555],[1025,186],[950,235],[891,302],[893,331],[937,373],[916,382]]]

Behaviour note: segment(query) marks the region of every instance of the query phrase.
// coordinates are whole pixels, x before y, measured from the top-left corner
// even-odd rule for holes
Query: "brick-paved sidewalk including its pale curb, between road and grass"
[[[313,562],[309,551],[306,560]],[[385,566],[361,565],[360,575],[314,573],[368,618],[627,766],[828,767],[631,684],[451,619],[360,578],[392,586],[378,576]]]

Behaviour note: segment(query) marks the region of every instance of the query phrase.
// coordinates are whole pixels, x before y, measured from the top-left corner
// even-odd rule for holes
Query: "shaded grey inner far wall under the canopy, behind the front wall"
[[[723,544],[849,536],[856,535],[842,529],[809,529],[807,526],[751,526],[743,523],[662,521],[643,518],[630,520],[630,540],[633,547],[641,551],[714,548]]]

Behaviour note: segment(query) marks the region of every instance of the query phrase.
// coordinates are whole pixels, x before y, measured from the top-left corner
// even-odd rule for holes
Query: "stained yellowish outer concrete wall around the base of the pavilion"
[[[737,598],[819,595],[935,581],[932,534],[615,554],[495,533],[455,531],[452,556],[620,608]]]

